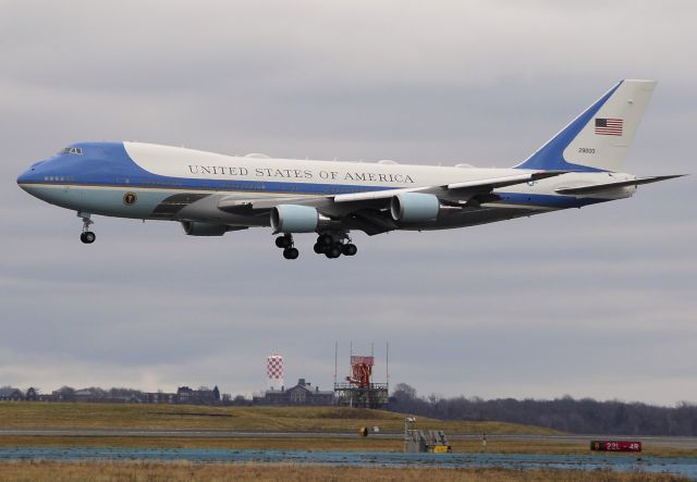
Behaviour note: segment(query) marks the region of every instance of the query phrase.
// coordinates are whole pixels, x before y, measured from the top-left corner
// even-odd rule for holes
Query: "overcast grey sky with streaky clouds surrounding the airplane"
[[[563,7],[562,7],[563,4]],[[77,140],[510,166],[621,78],[659,81],[626,171],[694,173],[693,1],[0,1],[0,385],[329,388],[339,341],[419,394],[697,401],[695,176],[629,200],[282,259],[15,184]]]

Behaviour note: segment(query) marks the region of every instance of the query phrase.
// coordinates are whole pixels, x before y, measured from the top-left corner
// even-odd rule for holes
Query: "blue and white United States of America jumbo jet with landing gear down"
[[[677,175],[621,172],[652,81],[622,81],[519,164],[509,169],[222,156],[142,143],[76,143],[17,178],[30,195],[77,211],[81,240],[94,214],[178,221],[191,236],[270,226],[283,257],[293,234],[314,250],[354,256],[350,233],[445,230],[580,208],[634,195]]]

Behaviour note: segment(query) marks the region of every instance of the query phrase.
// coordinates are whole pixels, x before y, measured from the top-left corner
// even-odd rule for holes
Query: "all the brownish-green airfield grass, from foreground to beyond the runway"
[[[0,403],[4,429],[160,429],[264,432],[345,432],[350,437],[293,438],[242,436],[58,436],[3,435],[0,447],[147,447],[401,452],[401,440],[362,437],[360,427],[401,433],[404,415],[338,407],[196,407],[171,405]],[[500,422],[442,422],[419,418],[421,429],[447,433],[553,434],[551,430]],[[478,441],[453,441],[453,450],[478,453]],[[501,454],[588,454],[587,444],[489,440],[487,452]],[[646,447],[644,455],[697,456],[697,450]],[[576,470],[337,468],[311,465],[193,464],[145,461],[2,461],[2,481],[683,481],[680,477],[637,472]]]

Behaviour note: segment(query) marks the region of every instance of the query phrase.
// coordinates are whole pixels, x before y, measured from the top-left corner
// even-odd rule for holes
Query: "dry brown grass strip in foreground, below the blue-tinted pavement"
[[[484,482],[649,482],[687,481],[686,478],[638,472],[514,469],[384,469],[334,468],[294,465],[233,465],[189,462],[0,462],[3,481],[247,481],[355,482],[435,480]]]

